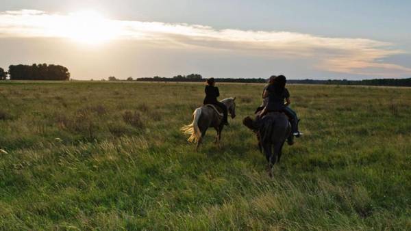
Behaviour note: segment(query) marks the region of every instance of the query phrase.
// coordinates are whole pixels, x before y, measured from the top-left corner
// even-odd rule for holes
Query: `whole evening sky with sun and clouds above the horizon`
[[[0,67],[73,79],[411,77],[411,1],[118,0],[0,5]]]

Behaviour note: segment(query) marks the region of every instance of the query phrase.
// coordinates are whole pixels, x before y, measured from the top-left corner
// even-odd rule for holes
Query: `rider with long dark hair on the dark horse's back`
[[[264,90],[264,93],[262,95],[263,98],[268,97],[269,100],[266,105],[266,108],[262,111],[260,115],[263,116],[264,113],[270,111],[283,111],[284,113],[286,113],[288,118],[290,118],[292,135],[299,137],[300,133],[298,131],[297,113],[295,113],[295,111],[288,107],[288,105],[291,104],[291,101],[290,92],[288,92],[286,88],[287,79],[284,75],[279,75],[277,77],[271,78],[269,86],[266,87],[266,90]],[[284,100],[286,100],[285,104]]]

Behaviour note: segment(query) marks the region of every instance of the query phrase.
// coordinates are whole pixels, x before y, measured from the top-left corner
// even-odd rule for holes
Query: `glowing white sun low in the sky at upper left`
[[[67,17],[67,38],[83,44],[101,44],[114,38],[115,28],[112,22],[92,10],[71,13]]]

